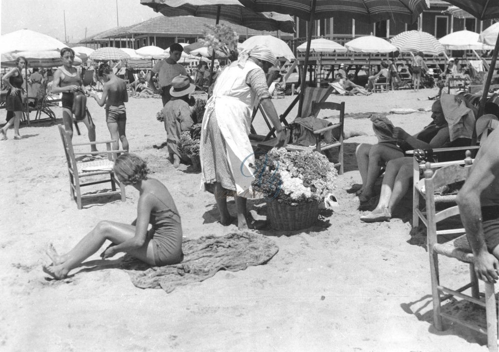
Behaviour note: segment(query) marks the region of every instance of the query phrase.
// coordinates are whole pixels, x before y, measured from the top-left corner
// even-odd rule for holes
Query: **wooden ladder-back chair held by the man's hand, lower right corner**
[[[426,208],[428,209],[428,253],[430,255],[430,275],[432,284],[433,298],[433,320],[435,328],[439,331],[443,330],[442,318],[446,318],[453,323],[461,324],[469,329],[473,329],[487,336],[487,345],[489,351],[498,352],[498,313],[495,297],[494,283],[485,283],[485,299],[480,297],[479,282],[475,273],[473,253],[466,238],[466,234],[457,237],[453,240],[443,242],[443,235],[462,234],[464,228],[451,228],[437,230],[437,223],[459,214],[457,205],[436,211],[434,191],[446,184],[466,180],[470,174],[472,159],[470,152],[467,152],[464,161],[465,167],[460,165],[450,165],[436,170],[432,170],[430,163],[427,164],[425,170],[425,189],[426,189]],[[439,243],[439,236],[441,238]],[[470,269],[470,282],[461,288],[451,289],[441,283],[439,273],[439,255],[445,255],[449,258],[455,258],[461,262],[468,263]],[[471,296],[463,292],[471,289]],[[476,305],[485,307],[487,327],[479,326],[476,322],[464,320],[461,317],[450,314],[452,312],[444,312],[442,310],[442,302],[449,298],[456,297],[472,302]]]

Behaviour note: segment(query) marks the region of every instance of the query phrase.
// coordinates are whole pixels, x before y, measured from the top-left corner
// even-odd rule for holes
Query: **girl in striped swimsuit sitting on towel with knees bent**
[[[120,182],[131,184],[139,191],[137,218],[131,225],[100,221],[68,253],[59,255],[52,244],[46,253],[52,260],[43,271],[60,280],[78,267],[110,240],[112,244],[101,253],[103,259],[119,252],[153,266],[177,264],[183,260],[182,225],[175,202],[163,183],[147,176],[146,162],[134,154],[123,154],[114,163],[113,171]],[[149,223],[152,225],[147,230]]]

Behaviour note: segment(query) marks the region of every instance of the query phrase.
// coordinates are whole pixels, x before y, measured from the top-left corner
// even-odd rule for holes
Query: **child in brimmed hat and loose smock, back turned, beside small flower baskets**
[[[166,146],[170,161],[174,168],[180,165],[180,153],[178,143],[183,131],[191,129],[194,121],[191,118],[189,94],[194,92],[196,86],[192,84],[187,76],[177,76],[172,80],[169,100],[163,108],[165,117]]]

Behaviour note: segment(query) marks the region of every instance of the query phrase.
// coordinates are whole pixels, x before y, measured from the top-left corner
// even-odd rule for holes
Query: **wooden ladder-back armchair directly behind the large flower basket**
[[[299,145],[293,145],[293,144],[288,144],[286,145],[286,149],[289,151],[300,151],[300,152],[305,152],[305,151],[316,151],[319,153],[322,153],[326,150],[330,150],[331,148],[336,148],[339,147],[338,151],[338,162],[334,164],[334,167],[339,167],[339,175],[343,175],[343,131],[344,131],[344,124],[345,124],[345,102],[341,103],[332,103],[332,102],[322,102],[322,103],[315,103],[312,102],[312,111],[316,112],[314,113],[315,116],[318,114],[318,112],[322,109],[328,109],[328,110],[338,110],[339,111],[339,122],[336,124],[331,124],[330,126],[318,129],[318,130],[312,130],[314,136],[315,136],[315,145],[313,146],[299,146]],[[326,143],[324,142],[322,136],[325,132],[331,131],[336,129],[337,131],[337,139],[332,141],[331,143]]]

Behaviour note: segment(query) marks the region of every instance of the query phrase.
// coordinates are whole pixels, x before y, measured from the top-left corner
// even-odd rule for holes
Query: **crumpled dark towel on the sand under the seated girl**
[[[225,236],[203,236],[182,243],[184,260],[180,264],[151,267],[125,255],[120,267],[139,288],[162,288],[167,293],[177,286],[201,282],[219,270],[239,271],[268,262],[278,251],[274,241],[250,231]]]

